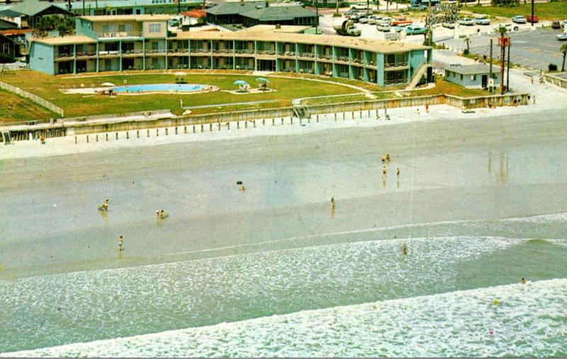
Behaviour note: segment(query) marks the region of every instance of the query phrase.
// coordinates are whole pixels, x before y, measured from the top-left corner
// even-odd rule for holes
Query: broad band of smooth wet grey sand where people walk
[[[270,242],[312,234],[565,212],[562,118],[547,110],[6,159],[0,279],[301,246]],[[107,217],[96,211],[105,197]],[[158,225],[162,208],[170,217]]]

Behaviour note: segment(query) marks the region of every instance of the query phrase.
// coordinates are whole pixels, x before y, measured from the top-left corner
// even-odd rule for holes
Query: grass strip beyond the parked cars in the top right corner
[[[520,4],[520,6],[504,7],[504,6],[471,6],[462,8],[462,11],[471,11],[473,13],[484,13],[490,16],[503,16],[512,18],[515,15],[527,16],[532,13],[532,4]],[[535,3],[534,14],[541,20],[563,20],[567,18],[567,3],[565,2],[549,2]]]

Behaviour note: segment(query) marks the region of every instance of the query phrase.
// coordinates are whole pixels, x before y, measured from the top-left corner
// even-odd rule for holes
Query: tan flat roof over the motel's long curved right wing
[[[274,30],[275,25],[271,26]],[[298,33],[282,33],[263,28],[248,28],[242,31],[182,31],[177,33],[179,40],[257,40],[277,42],[298,42],[303,44],[318,44],[339,47],[354,47],[359,50],[395,53],[409,50],[428,50],[431,47],[410,44],[408,42],[375,40],[366,38],[346,38],[339,35],[311,35]]]

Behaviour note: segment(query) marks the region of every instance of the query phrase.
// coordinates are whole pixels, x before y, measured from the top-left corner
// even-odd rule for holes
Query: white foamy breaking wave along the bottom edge
[[[542,280],[5,355],[562,357],[566,303],[567,279]]]

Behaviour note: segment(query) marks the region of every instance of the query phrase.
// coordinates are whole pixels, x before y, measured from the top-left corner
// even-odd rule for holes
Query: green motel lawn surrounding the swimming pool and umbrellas
[[[186,81],[190,84],[203,84],[218,86],[221,90],[236,90],[237,86],[232,83],[243,79],[250,86],[257,86],[258,76],[247,76],[245,74],[189,74]],[[179,99],[183,100],[185,107],[214,105],[221,103],[238,103],[249,101],[275,100],[271,103],[261,103],[252,106],[238,106],[237,109],[281,107],[291,106],[293,98],[337,95],[344,93],[357,93],[355,89],[339,84],[327,84],[318,81],[308,81],[301,78],[282,79],[279,77],[263,76],[269,79],[269,87],[276,91],[272,93],[254,93],[246,95],[235,95],[224,91],[213,91],[210,93],[194,93],[189,95],[178,95],[174,93],[149,94],[141,96],[110,96],[84,94],[65,94],[60,91],[65,88],[79,88],[100,86],[103,82],[111,82],[116,85],[123,84],[174,84],[173,74],[140,73],[140,74],[108,74],[108,76],[91,77],[64,77],[50,76],[41,72],[18,71],[11,76],[5,76],[3,81],[21,89],[34,93],[56,106],[63,108],[65,117],[96,115],[107,113],[128,113],[144,110],[171,109],[176,114],[181,114]],[[358,83],[358,81],[354,81]],[[359,83],[360,84],[360,83]],[[232,106],[231,106],[232,107]],[[235,108],[232,108],[235,109]],[[200,108],[192,110],[193,113],[215,112],[218,108]],[[228,110],[228,108],[223,108]]]

